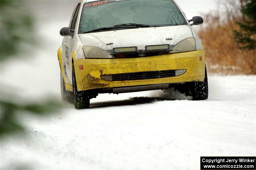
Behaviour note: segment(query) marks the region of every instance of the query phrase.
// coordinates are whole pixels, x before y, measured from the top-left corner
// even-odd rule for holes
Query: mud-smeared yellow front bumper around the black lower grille
[[[201,61],[199,56],[202,57]],[[80,65],[83,65],[84,70],[79,69]],[[74,61],[74,67],[78,91],[83,91],[95,88],[204,81],[205,58],[204,51],[197,50],[153,57],[77,59]],[[100,77],[108,74],[176,69],[187,71],[181,76],[147,80],[107,81]]]

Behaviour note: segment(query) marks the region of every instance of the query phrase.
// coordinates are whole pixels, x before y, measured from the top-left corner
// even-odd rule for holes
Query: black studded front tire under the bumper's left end
[[[73,102],[76,109],[87,109],[90,107],[89,91],[78,91],[76,86],[76,75],[74,64],[72,66]]]

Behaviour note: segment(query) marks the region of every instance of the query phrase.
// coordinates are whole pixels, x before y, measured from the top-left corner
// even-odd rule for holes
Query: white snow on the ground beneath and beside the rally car
[[[1,63],[5,92],[60,100],[64,26],[40,25],[41,45]],[[65,104],[45,117],[20,113],[26,131],[1,139],[0,169],[199,169],[200,156],[255,156],[255,76],[209,74],[208,81],[204,101],[170,89],[100,94],[89,109]]]

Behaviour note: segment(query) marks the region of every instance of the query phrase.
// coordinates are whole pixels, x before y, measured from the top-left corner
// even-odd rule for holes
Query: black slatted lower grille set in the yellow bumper
[[[112,74],[112,81],[158,79],[174,76],[175,70],[144,71],[136,73]]]

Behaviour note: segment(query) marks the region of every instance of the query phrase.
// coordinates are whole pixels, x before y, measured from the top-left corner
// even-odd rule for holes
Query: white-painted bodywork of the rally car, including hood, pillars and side
[[[62,55],[65,56],[65,48],[68,47],[68,56],[71,56],[72,51],[76,51],[76,59],[84,58],[82,47],[85,45],[95,46],[104,50],[112,50],[116,47],[129,47],[137,46],[138,49],[145,49],[146,45],[158,45],[158,44],[170,44],[176,45],[183,39],[194,37],[196,42],[196,50],[202,49],[201,41],[195,33],[192,26],[189,24],[186,15],[180,9],[179,5],[175,2],[180,11],[182,11],[183,17],[186,19],[188,25],[180,26],[165,26],[165,27],[150,27],[143,29],[123,29],[108,32],[94,32],[87,34],[78,34],[78,27],[80,24],[81,12],[83,5],[88,2],[95,2],[97,0],[82,0],[79,3],[80,9],[78,12],[78,18],[74,30],[74,36],[65,36],[62,41]],[[173,40],[166,40],[166,38],[172,38]],[[72,41],[71,41],[72,40]],[[125,41],[123,41],[125,40]],[[154,42],[154,43],[152,43]],[[113,43],[113,45],[106,45]],[[62,60],[62,66],[66,70],[66,80],[72,85],[72,58],[68,57],[66,60]]]

